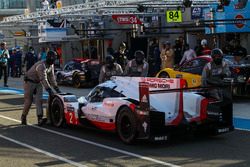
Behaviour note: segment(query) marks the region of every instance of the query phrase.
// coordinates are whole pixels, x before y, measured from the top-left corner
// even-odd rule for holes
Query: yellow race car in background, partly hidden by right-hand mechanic
[[[232,74],[227,80],[233,80],[233,95],[250,95],[250,57],[243,58],[241,65],[234,65],[233,56],[226,55],[224,60],[228,63]],[[186,87],[199,87],[203,68],[211,61],[210,56],[199,56],[177,68],[162,69],[156,77],[183,78],[186,80]]]

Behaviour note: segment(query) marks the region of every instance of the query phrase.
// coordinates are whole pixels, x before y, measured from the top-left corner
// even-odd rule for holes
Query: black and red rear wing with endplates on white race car
[[[232,101],[230,98],[210,98],[206,97],[207,92],[215,90],[218,87],[197,87],[197,88],[184,88],[185,81],[180,79],[180,85],[178,88],[174,89],[157,89],[150,90],[150,83],[148,82],[139,82],[139,108],[137,108],[137,115],[139,120],[139,138],[154,138],[153,140],[165,140],[168,137],[162,136],[162,128],[165,127],[177,127],[179,125],[188,124],[185,116],[184,116],[184,92],[195,92],[200,94],[202,97],[204,96],[204,101],[201,103],[202,112],[203,112],[203,120],[204,119],[212,119],[212,121],[217,121],[217,118],[214,118],[214,115],[218,114],[219,120],[218,125],[222,127],[233,127],[232,123]],[[219,88],[221,89],[221,88]],[[175,119],[171,121],[170,124],[166,125],[166,116],[164,112],[160,111],[152,111],[150,96],[154,94],[163,94],[163,93],[176,93],[178,94],[178,114]],[[186,95],[186,94],[185,94]],[[170,96],[171,97],[171,96]],[[212,99],[212,100],[211,100]],[[165,99],[172,100],[172,99]],[[210,101],[211,100],[211,101]],[[210,117],[209,114],[212,114]],[[164,129],[165,129],[164,128]],[[165,131],[165,130],[164,130]],[[157,137],[158,136],[158,137]]]

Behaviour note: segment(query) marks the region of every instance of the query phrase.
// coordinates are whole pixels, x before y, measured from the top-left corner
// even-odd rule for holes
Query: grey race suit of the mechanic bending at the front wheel
[[[46,61],[34,64],[24,77],[24,108],[23,115],[27,116],[35,94],[37,116],[43,116],[42,96],[43,87],[48,90],[57,87],[54,66],[48,66]]]

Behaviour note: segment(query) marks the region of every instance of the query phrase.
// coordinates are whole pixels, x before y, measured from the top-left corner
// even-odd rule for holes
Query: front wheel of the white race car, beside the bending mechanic
[[[50,117],[52,125],[55,127],[62,127],[65,125],[65,116],[64,116],[64,106],[61,99],[54,97],[51,101],[51,110]]]

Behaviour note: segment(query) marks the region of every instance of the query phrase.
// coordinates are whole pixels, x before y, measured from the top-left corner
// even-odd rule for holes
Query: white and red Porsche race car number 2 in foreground
[[[233,130],[232,103],[183,89],[183,79],[113,77],[87,97],[57,94],[49,101],[52,124],[94,126],[117,132],[125,143],[135,139],[168,140],[178,129]]]

